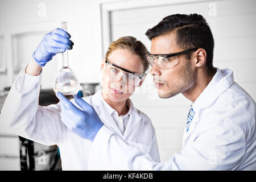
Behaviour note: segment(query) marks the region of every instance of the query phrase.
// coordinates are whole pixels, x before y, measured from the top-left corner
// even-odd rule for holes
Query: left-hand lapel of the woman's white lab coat
[[[93,96],[92,103],[94,106],[96,106],[94,107],[94,109],[96,110],[96,113],[101,118],[101,121],[104,123],[104,125],[113,129],[113,131],[116,131],[121,137],[123,137],[123,134],[121,133],[119,127],[115,123],[110,111],[102,103],[101,90]]]

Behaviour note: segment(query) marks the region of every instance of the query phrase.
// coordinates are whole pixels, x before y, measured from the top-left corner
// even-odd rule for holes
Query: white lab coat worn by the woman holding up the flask
[[[24,69],[19,73],[2,107],[0,125],[5,122],[15,134],[35,142],[57,144],[63,170],[86,170],[92,142],[68,130],[61,121],[60,104],[38,105],[41,77],[42,74],[27,75]],[[140,148],[154,160],[160,161],[155,129],[150,118],[135,109],[131,101],[130,119],[122,134],[111,117],[109,108],[102,103],[101,91],[83,99],[94,107],[102,122],[113,133]],[[71,102],[79,107],[73,99]],[[118,170],[119,166],[113,168]]]

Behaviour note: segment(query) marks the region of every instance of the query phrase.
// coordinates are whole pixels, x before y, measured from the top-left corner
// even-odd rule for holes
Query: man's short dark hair
[[[174,14],[166,16],[153,28],[147,30],[148,39],[176,31],[176,44],[181,48],[203,48],[207,52],[207,71],[212,72],[214,40],[212,31],[202,15]],[[190,59],[191,53],[187,56]]]

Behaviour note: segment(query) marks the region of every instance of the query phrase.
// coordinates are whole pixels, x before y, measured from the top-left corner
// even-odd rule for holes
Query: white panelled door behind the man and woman
[[[150,50],[150,40],[144,35],[148,28],[155,26],[167,15],[201,14],[207,19],[215,40],[214,67],[232,69],[236,82],[256,99],[256,1],[197,1],[149,7],[147,1],[141,2],[145,2],[147,7],[141,4],[139,7],[135,4],[133,6],[129,2],[129,7],[124,7],[123,3],[118,5],[121,8],[110,10],[109,40],[134,36]],[[179,152],[190,101],[181,94],[166,100],[156,97],[151,76],[147,77],[132,100],[138,109],[151,118],[155,126],[161,160],[167,160]]]

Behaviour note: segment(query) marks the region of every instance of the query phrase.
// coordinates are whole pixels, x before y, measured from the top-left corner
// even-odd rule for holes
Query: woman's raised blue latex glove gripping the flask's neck
[[[72,49],[74,43],[69,40],[71,36],[65,30],[56,28],[55,30],[44,35],[38,48],[32,57],[38,65],[44,67],[46,63],[52,59],[56,53],[65,52],[65,49]]]

